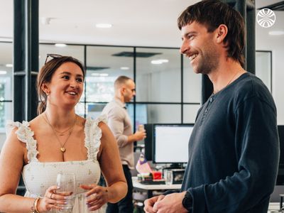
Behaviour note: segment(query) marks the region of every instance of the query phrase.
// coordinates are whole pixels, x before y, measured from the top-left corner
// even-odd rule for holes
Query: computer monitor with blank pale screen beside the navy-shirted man
[[[193,124],[154,124],[153,162],[187,163]]]

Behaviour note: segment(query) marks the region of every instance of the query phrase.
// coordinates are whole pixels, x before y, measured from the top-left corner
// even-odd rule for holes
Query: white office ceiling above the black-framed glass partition
[[[180,32],[176,20],[187,6],[195,2],[40,0],[39,37],[43,42],[178,47]],[[256,8],[276,2],[279,0],[256,0]],[[284,30],[282,20],[284,17],[276,22]],[[96,23],[111,23],[113,27],[96,28]],[[0,0],[0,40],[12,36],[13,1]]]

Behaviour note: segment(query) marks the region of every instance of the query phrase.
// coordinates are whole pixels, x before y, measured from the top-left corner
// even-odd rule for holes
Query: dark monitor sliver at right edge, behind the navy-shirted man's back
[[[284,126],[278,125],[278,135],[280,142],[280,160],[276,185],[284,185]]]

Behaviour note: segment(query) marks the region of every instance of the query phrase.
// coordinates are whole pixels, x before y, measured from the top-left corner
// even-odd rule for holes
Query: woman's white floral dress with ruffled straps
[[[82,190],[80,185],[97,184],[99,182],[101,170],[97,160],[97,153],[99,152],[100,138],[102,137],[102,130],[98,126],[100,121],[107,123],[106,117],[100,116],[95,120],[88,118],[84,126],[84,146],[87,148],[87,160],[66,162],[39,162],[37,159],[37,142],[33,138],[33,131],[29,127],[29,123],[27,121],[23,121],[23,124],[9,121],[7,131],[9,132],[17,127],[18,140],[26,143],[28,151],[28,164],[23,167],[22,171],[27,190],[25,197],[43,197],[48,187],[56,185],[58,173],[74,173],[77,189],[72,212],[90,212],[87,208],[86,197],[84,197],[85,190]],[[93,212],[102,213],[103,211],[99,209]]]

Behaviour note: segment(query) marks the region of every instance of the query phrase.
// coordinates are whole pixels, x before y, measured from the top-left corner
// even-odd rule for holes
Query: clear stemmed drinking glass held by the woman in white
[[[56,179],[56,184],[59,187],[56,193],[66,197],[66,204],[58,204],[61,207],[60,212],[72,212],[75,202],[75,174],[60,173]]]

